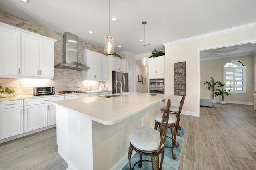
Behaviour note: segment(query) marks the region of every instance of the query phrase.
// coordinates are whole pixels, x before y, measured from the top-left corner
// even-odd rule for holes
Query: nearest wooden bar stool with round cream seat
[[[152,128],[136,128],[134,129],[129,138],[130,138],[130,147],[128,152],[128,159],[130,170],[133,170],[134,167],[138,164],[139,168],[142,167],[142,162],[151,162],[153,170],[161,170],[164,160],[164,146],[167,136],[168,129],[168,120],[169,120],[169,107],[171,100],[168,99],[167,107],[162,114],[160,121],[160,132]],[[140,154],[140,160],[138,160],[134,166],[131,166],[131,156],[132,151],[138,152]],[[161,154],[161,162],[159,167],[159,155]],[[142,155],[150,156],[150,160],[143,160]]]

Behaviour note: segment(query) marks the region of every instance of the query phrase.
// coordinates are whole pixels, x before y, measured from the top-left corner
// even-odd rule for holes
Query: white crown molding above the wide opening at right
[[[211,37],[211,36],[216,36],[216,35],[225,34],[225,33],[228,33],[228,32],[234,32],[234,31],[243,30],[243,29],[246,29],[246,28],[252,28],[252,27],[256,27],[256,22],[251,22],[251,23],[244,24],[244,25],[241,25],[241,26],[235,26],[235,27],[232,27],[232,28],[219,30],[219,31],[216,31],[216,32],[210,32],[210,33],[202,34],[202,35],[199,35],[199,36],[184,38],[184,39],[173,41],[173,42],[167,42],[167,43],[163,43],[163,45],[166,47],[168,45],[173,45],[173,44],[177,44],[177,43],[183,43],[183,42],[198,40],[198,39],[202,39],[202,38],[207,38],[207,37]]]

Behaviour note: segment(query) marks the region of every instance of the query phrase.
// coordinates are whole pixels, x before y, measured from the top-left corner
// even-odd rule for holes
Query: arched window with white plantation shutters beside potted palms
[[[229,61],[223,71],[225,88],[231,93],[246,93],[246,66],[240,61]]]

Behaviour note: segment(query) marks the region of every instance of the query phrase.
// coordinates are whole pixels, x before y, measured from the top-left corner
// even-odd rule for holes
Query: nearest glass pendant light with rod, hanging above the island
[[[115,39],[110,35],[110,0],[109,0],[109,34],[104,37],[104,53],[113,54],[115,52]]]

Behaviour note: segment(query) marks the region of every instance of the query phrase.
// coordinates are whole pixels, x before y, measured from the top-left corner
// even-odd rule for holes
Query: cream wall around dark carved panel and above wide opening
[[[208,34],[200,39],[165,43],[165,80],[166,93],[173,95],[173,64],[186,61],[186,99],[183,112],[199,116],[199,51],[214,46],[227,46],[227,44],[240,44],[256,41],[256,24],[230,32],[222,31],[220,34]],[[172,97],[172,105],[179,105],[181,96]]]

